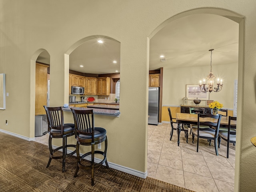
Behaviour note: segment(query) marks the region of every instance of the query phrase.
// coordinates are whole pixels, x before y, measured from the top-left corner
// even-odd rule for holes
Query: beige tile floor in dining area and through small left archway
[[[216,156],[214,142],[200,139],[196,152],[196,139],[192,135],[188,143],[184,132],[177,145],[174,130],[170,141],[170,124],[148,125],[148,177],[181,186],[196,192],[233,192],[235,173],[235,146],[230,144],[226,158],[226,142],[222,141]],[[36,137],[36,142],[48,145],[48,134]]]

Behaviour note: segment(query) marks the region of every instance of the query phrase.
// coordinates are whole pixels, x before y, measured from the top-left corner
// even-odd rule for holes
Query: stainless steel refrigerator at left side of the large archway
[[[148,124],[158,125],[159,87],[148,88]]]

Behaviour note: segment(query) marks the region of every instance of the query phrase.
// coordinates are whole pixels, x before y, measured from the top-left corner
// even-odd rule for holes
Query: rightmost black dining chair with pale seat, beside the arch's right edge
[[[228,131],[219,131],[219,136],[218,136],[218,148],[220,148],[221,139],[227,142],[227,158],[229,154],[229,143],[233,143],[233,145],[236,144],[236,132],[232,131],[232,130],[236,130],[236,126],[231,125],[231,120],[236,121],[236,117],[228,116]]]

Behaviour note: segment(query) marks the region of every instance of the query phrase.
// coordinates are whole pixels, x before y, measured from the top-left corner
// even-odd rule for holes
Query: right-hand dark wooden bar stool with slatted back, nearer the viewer
[[[73,113],[74,122],[75,122],[75,130],[76,130],[76,156],[77,156],[77,166],[74,177],[77,176],[79,168],[83,170],[91,170],[91,179],[92,186],[94,185],[94,169],[101,166],[102,164],[106,164],[106,167],[109,168],[107,162],[107,148],[108,148],[108,139],[106,129],[101,127],[94,127],[94,114],[93,109],[85,109],[85,110],[75,110],[71,108]],[[105,149],[104,152],[100,150],[95,150],[95,146],[105,141]],[[79,146],[91,146],[91,151],[85,154],[80,155]],[[99,163],[94,162],[95,154],[101,154],[103,159]],[[90,165],[84,164],[82,161],[86,156],[91,156]]]

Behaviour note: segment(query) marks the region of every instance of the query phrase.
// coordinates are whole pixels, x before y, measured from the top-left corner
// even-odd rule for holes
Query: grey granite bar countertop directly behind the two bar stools
[[[63,107],[63,111],[66,112],[71,112],[70,108],[74,108],[76,110],[91,110],[91,108],[86,108],[86,107]],[[106,115],[106,116],[114,116],[114,117],[119,117],[120,112],[119,110],[111,110],[111,109],[93,109],[93,113],[97,115]]]

